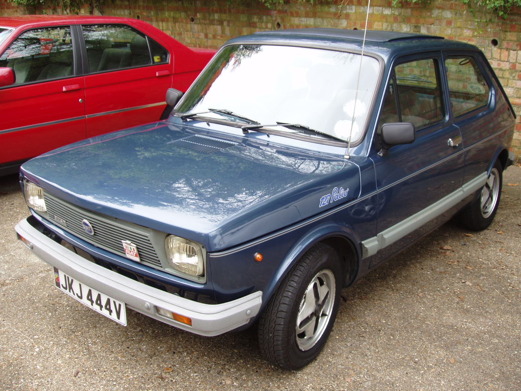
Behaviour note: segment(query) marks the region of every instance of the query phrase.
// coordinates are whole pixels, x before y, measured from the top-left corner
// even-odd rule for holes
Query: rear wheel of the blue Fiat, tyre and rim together
[[[485,186],[476,192],[474,200],[461,213],[462,224],[474,231],[487,228],[498,211],[503,186],[503,167],[496,161]]]

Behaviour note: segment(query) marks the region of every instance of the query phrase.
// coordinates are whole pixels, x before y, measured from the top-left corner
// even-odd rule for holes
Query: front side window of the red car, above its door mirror
[[[69,27],[29,30],[0,56],[0,67],[15,71],[15,84],[60,79],[73,74]]]

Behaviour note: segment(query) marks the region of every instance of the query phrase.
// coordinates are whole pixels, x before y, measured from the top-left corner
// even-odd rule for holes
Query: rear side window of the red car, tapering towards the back
[[[168,62],[168,52],[125,25],[82,26],[89,72],[125,69]]]

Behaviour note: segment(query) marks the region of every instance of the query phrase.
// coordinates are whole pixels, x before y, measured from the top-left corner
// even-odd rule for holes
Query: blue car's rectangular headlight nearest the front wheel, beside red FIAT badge
[[[203,251],[196,243],[170,235],[166,238],[165,249],[168,263],[175,270],[191,276],[204,274]]]

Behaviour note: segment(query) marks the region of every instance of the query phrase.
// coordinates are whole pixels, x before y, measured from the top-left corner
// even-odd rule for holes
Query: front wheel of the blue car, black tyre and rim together
[[[284,278],[258,323],[265,359],[283,369],[300,369],[326,343],[337,316],[342,266],[336,251],[319,244]]]

